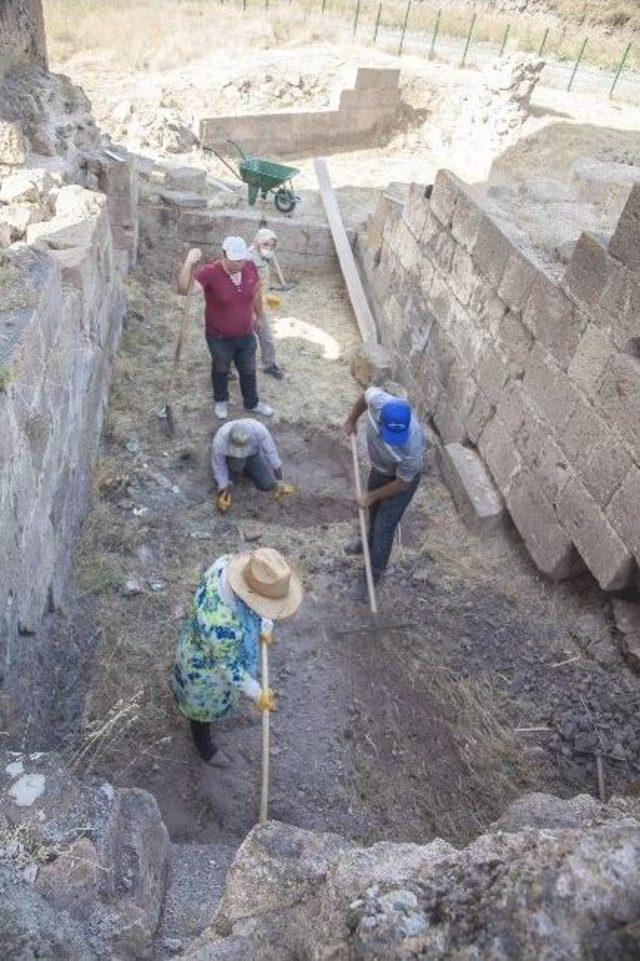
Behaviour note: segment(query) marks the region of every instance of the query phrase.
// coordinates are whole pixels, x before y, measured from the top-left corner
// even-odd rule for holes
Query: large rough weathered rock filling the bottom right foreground
[[[340,846],[270,823],[243,844],[184,959],[631,961],[639,863],[631,800],[525,798],[459,851],[439,839]]]

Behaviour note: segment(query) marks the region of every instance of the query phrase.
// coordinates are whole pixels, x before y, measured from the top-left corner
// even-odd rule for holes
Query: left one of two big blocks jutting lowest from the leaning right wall
[[[561,580],[576,572],[573,544],[533,474],[522,471],[514,479],[507,507],[541,573],[551,580]]]

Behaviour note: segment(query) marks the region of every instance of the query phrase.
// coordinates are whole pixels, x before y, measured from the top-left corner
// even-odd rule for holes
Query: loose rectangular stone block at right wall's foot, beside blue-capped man
[[[478,454],[462,444],[447,444],[442,471],[464,522],[479,533],[491,533],[504,522],[504,501]]]

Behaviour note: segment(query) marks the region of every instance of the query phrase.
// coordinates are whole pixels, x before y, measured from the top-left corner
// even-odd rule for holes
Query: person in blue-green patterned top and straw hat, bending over
[[[263,694],[256,680],[260,637],[294,614],[302,595],[298,575],[271,548],[219,557],[202,578],[171,688],[203,761],[217,753],[211,723],[236,710],[243,694],[259,711],[274,709],[273,692]]]

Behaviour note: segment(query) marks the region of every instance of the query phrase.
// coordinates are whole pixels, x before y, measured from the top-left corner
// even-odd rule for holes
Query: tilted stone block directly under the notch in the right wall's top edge
[[[560,367],[566,370],[586,320],[576,311],[564,291],[544,274],[536,277],[522,320]]]

